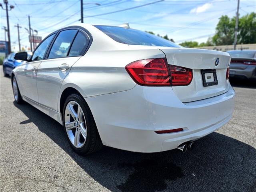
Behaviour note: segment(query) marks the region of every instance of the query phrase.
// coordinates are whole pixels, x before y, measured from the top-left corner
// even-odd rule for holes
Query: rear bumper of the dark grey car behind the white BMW
[[[230,67],[230,77],[256,79],[256,66],[248,66],[245,69],[233,69]]]

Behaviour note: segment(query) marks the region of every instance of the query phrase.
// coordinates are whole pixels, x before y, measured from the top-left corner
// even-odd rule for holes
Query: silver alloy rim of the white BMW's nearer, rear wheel
[[[67,104],[64,121],[70,142],[76,148],[84,146],[87,136],[86,121],[84,112],[77,102],[70,101]]]

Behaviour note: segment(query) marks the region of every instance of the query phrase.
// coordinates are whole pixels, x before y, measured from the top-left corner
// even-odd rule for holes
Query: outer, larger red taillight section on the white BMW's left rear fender
[[[125,67],[132,79],[143,86],[170,86],[165,58],[134,61]]]

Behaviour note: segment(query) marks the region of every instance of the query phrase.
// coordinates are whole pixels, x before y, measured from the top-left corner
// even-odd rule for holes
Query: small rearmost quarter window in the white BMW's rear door
[[[89,40],[88,38],[82,34],[81,32],[78,32],[76,35],[76,38],[70,48],[70,52],[68,56],[80,56],[84,53],[88,46]]]

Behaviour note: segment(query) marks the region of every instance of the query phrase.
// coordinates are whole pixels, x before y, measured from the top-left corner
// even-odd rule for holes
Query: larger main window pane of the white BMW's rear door
[[[70,45],[76,35],[76,32],[77,30],[74,29],[60,32],[60,34],[58,34],[58,37],[54,41],[54,44],[52,45],[48,58],[52,59],[66,57],[68,55]]]

